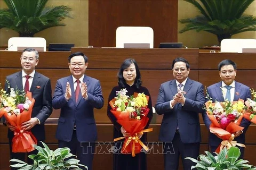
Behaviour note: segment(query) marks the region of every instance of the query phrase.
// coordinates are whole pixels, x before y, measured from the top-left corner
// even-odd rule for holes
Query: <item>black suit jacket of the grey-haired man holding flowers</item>
[[[6,81],[9,82],[11,88],[23,90],[22,71],[8,75],[6,77]],[[8,84],[5,83],[5,90],[9,92],[7,87]],[[45,77],[43,74],[35,72],[29,91],[35,99],[31,117],[37,117],[40,121],[40,124],[35,125],[31,129],[31,132],[35,135],[38,141],[44,141],[44,122],[52,114],[52,88],[50,79]],[[8,138],[13,138],[13,132],[10,129],[8,130]]]

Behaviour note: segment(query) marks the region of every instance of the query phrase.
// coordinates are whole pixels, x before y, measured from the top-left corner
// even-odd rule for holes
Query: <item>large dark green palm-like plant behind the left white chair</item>
[[[71,18],[68,6],[45,7],[48,0],[4,0],[8,8],[0,9],[0,29],[9,28],[20,37],[34,37],[35,33],[56,26]]]

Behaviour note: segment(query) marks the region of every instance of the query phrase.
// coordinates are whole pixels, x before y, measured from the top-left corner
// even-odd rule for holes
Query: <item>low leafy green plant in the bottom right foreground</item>
[[[239,159],[241,154],[239,148],[230,147],[229,150],[224,148],[220,151],[217,156],[213,156],[209,151],[205,151],[206,155],[199,155],[199,160],[196,160],[191,157],[187,157],[185,159],[190,159],[194,163],[195,166],[192,166],[191,169],[199,169],[199,170],[231,170],[231,169],[248,169],[253,170],[256,169],[255,166],[249,165],[247,163],[248,160]]]

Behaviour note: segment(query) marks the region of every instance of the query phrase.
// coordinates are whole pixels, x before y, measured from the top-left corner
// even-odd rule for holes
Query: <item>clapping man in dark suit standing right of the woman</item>
[[[175,58],[172,69],[174,80],[161,84],[155,105],[156,113],[164,115],[159,140],[164,142],[165,169],[178,169],[181,155],[183,169],[188,170],[195,164],[185,158],[199,155],[204,87],[188,78],[190,66],[185,58]]]

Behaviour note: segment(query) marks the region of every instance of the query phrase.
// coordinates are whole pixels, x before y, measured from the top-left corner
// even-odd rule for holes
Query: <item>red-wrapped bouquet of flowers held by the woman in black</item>
[[[143,93],[134,93],[133,96],[127,96],[126,93],[126,89],[116,91],[117,97],[109,101],[109,105],[112,108],[110,111],[116,117],[117,122],[123,126],[127,133],[131,134],[131,137],[116,138],[114,141],[125,139],[121,153],[132,154],[134,157],[142,147],[146,151],[149,149],[138,136],[153,131],[153,129],[144,129],[149,121],[147,117],[149,97]]]

